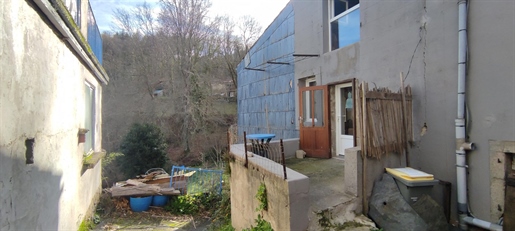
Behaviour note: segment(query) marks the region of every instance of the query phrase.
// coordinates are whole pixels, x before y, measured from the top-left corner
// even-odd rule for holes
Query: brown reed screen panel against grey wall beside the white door
[[[363,82],[356,89],[355,100],[356,118],[360,118],[356,121],[358,139],[364,153],[377,159],[389,153],[406,153],[413,141],[411,87],[406,86],[404,92],[369,90]]]

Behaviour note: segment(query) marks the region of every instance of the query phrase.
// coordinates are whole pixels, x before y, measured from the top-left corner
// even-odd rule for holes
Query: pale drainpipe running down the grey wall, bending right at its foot
[[[456,127],[456,178],[458,191],[458,216],[460,229],[467,230],[467,224],[489,230],[502,230],[491,222],[469,216],[467,204],[467,152],[474,150],[474,143],[465,139],[465,77],[467,69],[467,0],[458,2],[458,117]]]

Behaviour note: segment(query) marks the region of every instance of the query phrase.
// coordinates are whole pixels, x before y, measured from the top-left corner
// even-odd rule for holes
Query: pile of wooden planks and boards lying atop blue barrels
[[[184,179],[185,184],[187,184],[187,178]],[[115,186],[111,187],[111,195],[113,197],[180,194],[179,190],[170,187],[170,175],[166,172],[151,172],[147,175],[142,175],[141,178],[117,182]]]

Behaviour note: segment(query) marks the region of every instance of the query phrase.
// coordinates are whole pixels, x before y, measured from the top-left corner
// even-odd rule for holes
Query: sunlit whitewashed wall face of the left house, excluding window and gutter
[[[96,89],[95,151],[102,88],[28,2],[0,7],[0,230],[77,230],[101,190],[100,163],[81,171],[84,82]]]

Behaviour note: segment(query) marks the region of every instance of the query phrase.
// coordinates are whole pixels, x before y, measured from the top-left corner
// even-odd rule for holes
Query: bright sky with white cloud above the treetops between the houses
[[[100,32],[110,31],[113,21],[113,10],[129,9],[144,2],[158,6],[159,0],[90,0]],[[275,17],[286,6],[289,0],[211,0],[209,9],[212,16],[227,15],[233,20],[250,15],[258,21],[262,29],[266,29]]]

